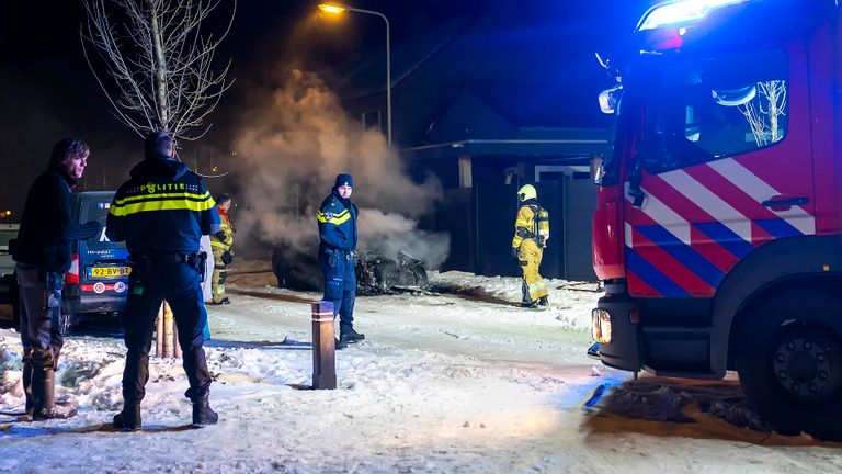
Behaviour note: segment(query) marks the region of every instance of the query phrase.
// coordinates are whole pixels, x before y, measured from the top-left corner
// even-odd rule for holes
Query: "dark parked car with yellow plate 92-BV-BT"
[[[114,191],[89,191],[73,194],[73,221],[99,221],[105,225]],[[105,228],[88,240],[73,244],[70,271],[65,275],[61,327],[69,332],[79,321],[116,317],[126,306],[128,250],[125,242],[105,237]]]

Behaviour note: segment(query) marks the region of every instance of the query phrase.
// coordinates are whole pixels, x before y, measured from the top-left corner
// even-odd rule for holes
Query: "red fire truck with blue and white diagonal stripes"
[[[592,312],[606,365],[739,374],[782,433],[842,440],[842,32],[834,0],[652,7],[605,64]]]

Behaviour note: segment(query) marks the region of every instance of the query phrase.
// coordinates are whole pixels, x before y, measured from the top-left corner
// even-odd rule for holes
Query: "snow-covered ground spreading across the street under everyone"
[[[733,381],[630,381],[594,365],[594,284],[553,281],[548,311],[516,307],[519,279],[457,272],[431,275],[451,294],[359,297],[366,340],[337,352],[337,390],[311,391],[308,303],[320,295],[250,275],[232,275],[231,305],[209,307],[218,425],[187,428],[181,364],[153,360],[144,430],[112,430],[122,340],[71,337],[59,391],[80,414],[0,415],[0,472],[842,472],[838,444],[709,415],[762,429],[733,419],[746,411]],[[4,413],[22,409],[20,356],[16,332],[0,330]],[[587,408],[594,392],[607,395]]]

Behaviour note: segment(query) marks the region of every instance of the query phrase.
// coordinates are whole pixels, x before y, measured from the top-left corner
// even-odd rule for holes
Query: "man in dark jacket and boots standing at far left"
[[[55,370],[64,346],[59,316],[70,242],[93,237],[102,224],[75,225],[70,194],[88,166],[88,145],[65,138],[53,146],[47,170],[32,184],[18,238],[10,242],[20,287],[23,387],[35,420],[68,418],[76,409],[55,404]]]

